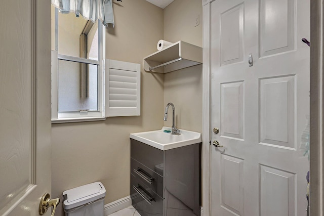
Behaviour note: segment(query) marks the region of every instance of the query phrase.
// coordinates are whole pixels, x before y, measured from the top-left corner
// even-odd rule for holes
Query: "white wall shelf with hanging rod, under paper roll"
[[[169,73],[203,63],[203,48],[179,40],[144,58],[144,70]]]

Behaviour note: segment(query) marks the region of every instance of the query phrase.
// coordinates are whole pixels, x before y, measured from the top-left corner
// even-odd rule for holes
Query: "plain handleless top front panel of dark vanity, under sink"
[[[131,139],[131,157],[164,176],[164,151]]]

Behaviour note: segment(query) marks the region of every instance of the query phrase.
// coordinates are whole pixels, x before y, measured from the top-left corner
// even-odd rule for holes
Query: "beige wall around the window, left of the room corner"
[[[163,10],[145,0],[113,4],[115,28],[106,30],[106,58],[143,63],[163,38]],[[143,65],[141,66],[143,68]],[[52,197],[101,181],[105,204],[130,195],[130,139],[163,126],[164,76],[141,72],[141,116],[52,125]],[[60,205],[55,215],[63,215]]]

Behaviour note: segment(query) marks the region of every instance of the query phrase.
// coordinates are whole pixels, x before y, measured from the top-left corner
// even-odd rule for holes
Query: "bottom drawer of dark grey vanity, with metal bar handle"
[[[142,215],[163,215],[163,199],[131,174],[132,205]]]

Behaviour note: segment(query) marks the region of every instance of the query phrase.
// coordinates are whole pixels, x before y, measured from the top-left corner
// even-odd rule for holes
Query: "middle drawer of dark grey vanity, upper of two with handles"
[[[161,198],[164,198],[163,177],[133,158],[131,158],[131,173],[140,179],[146,187],[149,187]]]

